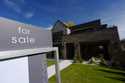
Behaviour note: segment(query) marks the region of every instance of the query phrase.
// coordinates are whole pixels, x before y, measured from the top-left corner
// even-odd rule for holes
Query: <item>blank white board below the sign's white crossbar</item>
[[[28,57],[1,61],[0,83],[29,83]]]

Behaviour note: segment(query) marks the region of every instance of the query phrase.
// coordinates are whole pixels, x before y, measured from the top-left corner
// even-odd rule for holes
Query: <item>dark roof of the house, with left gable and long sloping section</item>
[[[104,28],[107,28],[107,24],[101,24],[101,20],[97,19],[97,20],[93,20],[93,21],[89,21],[86,23],[68,27],[64,22],[57,20],[55,25],[53,26],[52,31],[57,32],[60,30],[65,30],[66,28],[70,29],[71,33],[74,33],[74,32],[79,32],[79,31],[81,32],[81,31],[86,31],[86,30],[93,30],[93,29],[94,30],[104,29]]]

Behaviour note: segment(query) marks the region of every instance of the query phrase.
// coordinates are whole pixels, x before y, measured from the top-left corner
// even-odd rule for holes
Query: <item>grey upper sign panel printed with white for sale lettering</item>
[[[0,51],[51,47],[51,31],[0,18]]]

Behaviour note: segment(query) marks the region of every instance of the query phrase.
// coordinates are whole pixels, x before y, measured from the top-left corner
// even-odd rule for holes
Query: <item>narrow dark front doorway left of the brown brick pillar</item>
[[[66,56],[67,59],[73,59],[74,58],[74,54],[75,54],[75,47],[73,43],[67,43],[66,44]]]

